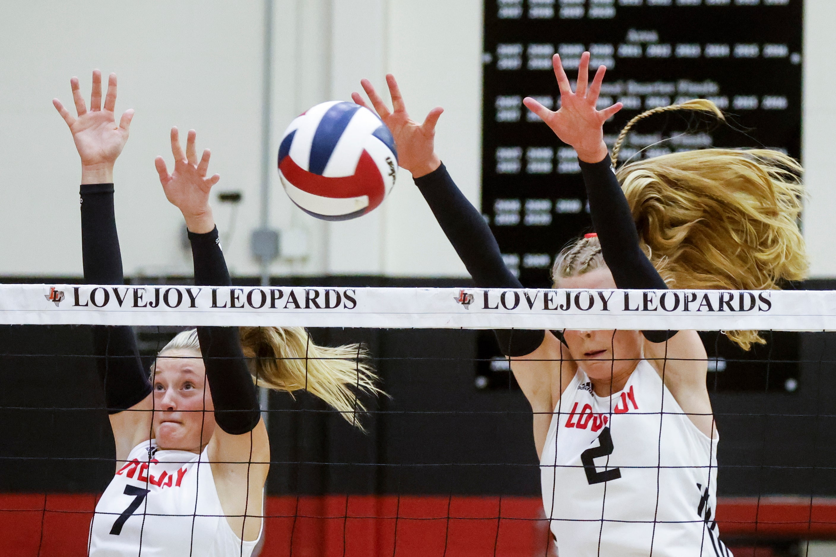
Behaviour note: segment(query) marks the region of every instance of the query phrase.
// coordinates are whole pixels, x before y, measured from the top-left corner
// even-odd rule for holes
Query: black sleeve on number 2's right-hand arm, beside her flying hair
[[[639,233],[630,205],[624,197],[619,180],[615,177],[609,154],[599,163],[579,161],[584,175],[586,195],[592,225],[598,233],[601,253],[609,271],[613,273],[615,286],[667,290],[667,285],[653,264],[641,251]],[[675,331],[643,331],[650,342],[665,342]]]

